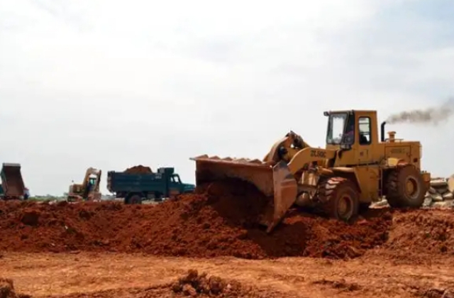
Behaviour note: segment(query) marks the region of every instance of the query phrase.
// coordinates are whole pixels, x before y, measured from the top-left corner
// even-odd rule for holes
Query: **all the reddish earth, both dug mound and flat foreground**
[[[267,235],[253,224],[262,199],[243,197],[0,202],[0,277],[32,297],[454,298],[454,210],[371,209],[352,223],[289,212]],[[188,270],[209,276],[179,280]],[[24,298],[6,283],[0,298]]]

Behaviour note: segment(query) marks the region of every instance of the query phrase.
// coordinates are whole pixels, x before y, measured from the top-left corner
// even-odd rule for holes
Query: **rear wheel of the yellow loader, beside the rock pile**
[[[393,208],[420,208],[427,187],[423,177],[413,165],[401,165],[389,173],[386,199]]]

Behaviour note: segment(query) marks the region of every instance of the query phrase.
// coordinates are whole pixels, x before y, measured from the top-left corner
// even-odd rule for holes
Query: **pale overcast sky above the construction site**
[[[290,130],[323,146],[328,109],[423,109],[454,95],[448,0],[0,0],[0,162],[32,194],[87,167],[262,158]],[[454,121],[389,126],[454,173]],[[451,127],[451,129],[449,129]]]

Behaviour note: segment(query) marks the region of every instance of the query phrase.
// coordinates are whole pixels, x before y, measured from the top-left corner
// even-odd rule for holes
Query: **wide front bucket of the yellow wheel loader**
[[[236,178],[254,184],[269,200],[260,223],[267,233],[279,223],[297,199],[297,180],[285,162],[272,166],[261,160],[218,158],[201,155],[196,162],[196,184]]]

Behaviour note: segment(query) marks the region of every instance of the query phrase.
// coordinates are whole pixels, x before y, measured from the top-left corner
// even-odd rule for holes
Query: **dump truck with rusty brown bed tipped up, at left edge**
[[[4,162],[0,175],[1,199],[28,199],[28,189],[23,183],[20,163]]]

